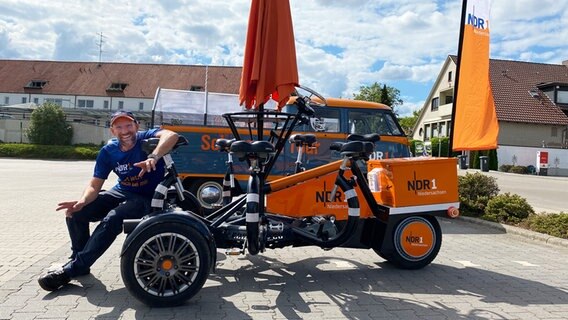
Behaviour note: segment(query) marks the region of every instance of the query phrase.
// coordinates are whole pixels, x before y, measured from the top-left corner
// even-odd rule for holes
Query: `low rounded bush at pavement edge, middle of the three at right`
[[[527,200],[518,194],[500,194],[487,202],[483,218],[495,222],[517,224],[534,214]]]

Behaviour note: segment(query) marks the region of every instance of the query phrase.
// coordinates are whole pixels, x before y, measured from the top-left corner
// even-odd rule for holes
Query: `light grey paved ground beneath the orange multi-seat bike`
[[[372,250],[219,251],[193,299],[149,308],[124,287],[120,236],[91,275],[43,291],[37,277],[69,254],[55,204],[80,195],[91,167],[0,159],[0,319],[568,319],[567,247],[447,219],[440,254],[422,270]]]

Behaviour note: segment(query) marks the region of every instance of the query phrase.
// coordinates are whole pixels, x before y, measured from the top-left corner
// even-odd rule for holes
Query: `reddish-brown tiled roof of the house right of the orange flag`
[[[489,69],[499,121],[568,125],[568,116],[537,88],[546,82],[568,84],[567,66],[491,59]]]

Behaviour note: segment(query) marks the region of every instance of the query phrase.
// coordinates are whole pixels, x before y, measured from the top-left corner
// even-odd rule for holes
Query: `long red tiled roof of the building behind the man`
[[[205,87],[205,66],[0,60],[0,92],[152,99],[158,87],[189,90]],[[241,67],[209,66],[210,92],[238,94]],[[24,89],[31,80],[47,80],[43,89]],[[111,83],[126,83],[124,92],[107,92]]]

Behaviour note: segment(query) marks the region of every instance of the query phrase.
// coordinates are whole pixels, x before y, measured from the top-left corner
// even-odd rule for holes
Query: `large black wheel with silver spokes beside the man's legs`
[[[177,306],[205,284],[210,255],[205,238],[194,228],[157,224],[136,236],[122,256],[122,280],[128,291],[148,306]]]

